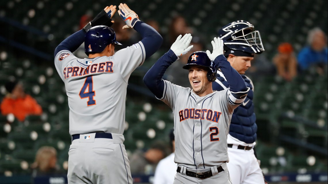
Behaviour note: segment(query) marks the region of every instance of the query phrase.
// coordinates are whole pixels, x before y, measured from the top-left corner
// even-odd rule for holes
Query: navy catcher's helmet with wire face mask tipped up
[[[240,50],[260,54],[264,51],[261,35],[254,26],[243,20],[232,22],[218,31],[224,50]]]

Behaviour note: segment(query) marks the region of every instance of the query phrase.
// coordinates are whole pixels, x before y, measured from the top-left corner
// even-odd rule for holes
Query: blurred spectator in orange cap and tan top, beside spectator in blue
[[[297,75],[297,61],[290,43],[281,43],[278,46],[273,63],[276,65],[277,74],[286,81],[291,81]]]

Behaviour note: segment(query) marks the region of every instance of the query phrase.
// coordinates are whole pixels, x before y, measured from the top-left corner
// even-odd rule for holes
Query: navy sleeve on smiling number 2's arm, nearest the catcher
[[[215,58],[214,63],[219,66],[223,75],[227,79],[230,91],[234,93],[247,91],[247,86],[240,74],[230,65],[223,55]]]

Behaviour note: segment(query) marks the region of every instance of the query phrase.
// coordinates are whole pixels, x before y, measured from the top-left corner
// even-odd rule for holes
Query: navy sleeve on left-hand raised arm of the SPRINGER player
[[[71,36],[62,41],[55,49],[55,57],[61,50],[69,50],[74,52],[84,42],[85,31],[83,29],[75,32]]]

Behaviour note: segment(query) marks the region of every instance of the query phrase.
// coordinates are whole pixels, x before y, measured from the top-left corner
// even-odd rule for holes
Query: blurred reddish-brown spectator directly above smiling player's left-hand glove
[[[169,41],[167,45],[171,46],[180,34],[185,35],[186,33],[190,33],[193,35],[193,30],[192,28],[188,27],[186,19],[182,16],[174,17],[170,24]]]

